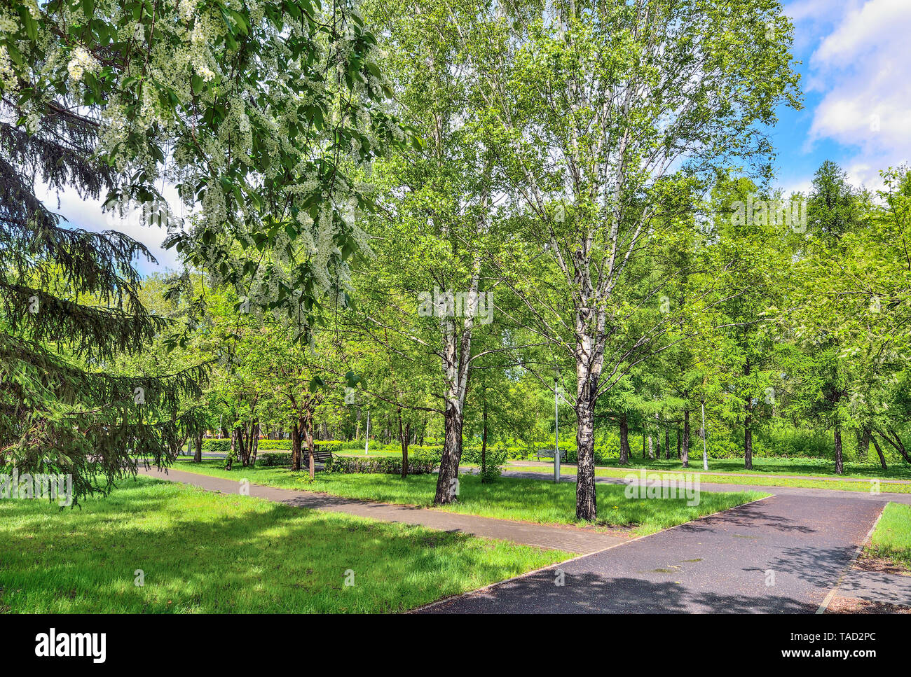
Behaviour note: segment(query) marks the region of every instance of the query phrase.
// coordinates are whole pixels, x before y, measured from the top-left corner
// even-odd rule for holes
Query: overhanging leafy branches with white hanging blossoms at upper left
[[[251,311],[309,328],[364,239],[359,167],[404,141],[353,6],[54,0],[0,11],[0,94],[15,129],[35,134],[48,114],[56,126],[87,121],[109,168],[107,207],[138,203],[169,222],[167,207],[148,207],[167,204],[157,186],[172,182],[199,208],[168,246]]]

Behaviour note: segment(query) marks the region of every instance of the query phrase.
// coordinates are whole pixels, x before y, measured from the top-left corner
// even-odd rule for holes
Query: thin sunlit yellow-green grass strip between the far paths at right
[[[701,460],[699,461],[701,464]],[[609,468],[605,466],[598,466],[595,469],[595,475],[598,477],[614,477],[614,478],[623,478],[629,475],[630,473],[636,474],[639,470],[649,470],[651,472],[661,472],[661,473],[681,473],[681,472],[693,472],[699,474],[699,478],[703,482],[714,482],[716,484],[741,484],[749,485],[755,487],[797,487],[801,489],[834,489],[840,491],[866,491],[869,492],[872,488],[872,485],[869,480],[848,480],[839,481],[839,480],[826,480],[824,476],[820,475],[818,480],[815,479],[798,479],[798,478],[788,478],[782,477],[780,475],[773,474],[745,474],[745,475],[734,475],[734,474],[724,474],[722,473],[713,473],[711,469],[715,468],[715,463],[718,461],[710,461],[710,470],[705,471],[699,468],[681,468],[680,461],[673,461],[672,465],[664,465],[671,463],[671,461],[661,461],[662,465],[648,465],[648,466],[637,466],[632,465],[628,467],[619,467],[619,468]],[[566,463],[561,464],[561,471],[564,475],[575,475],[576,466],[568,465]],[[527,466],[527,465],[514,465],[507,466],[505,470],[517,470],[520,472],[539,472],[543,475],[553,475],[552,466]],[[749,471],[748,471],[749,472]],[[832,475],[833,477],[838,477],[837,475]],[[891,493],[911,493],[911,484],[895,484],[890,483],[888,480],[879,481],[879,490],[886,491]]]

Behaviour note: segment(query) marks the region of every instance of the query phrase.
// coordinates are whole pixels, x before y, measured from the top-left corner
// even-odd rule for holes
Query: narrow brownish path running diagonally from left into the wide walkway
[[[180,470],[139,470],[140,474],[159,480],[178,481],[194,487],[221,493],[238,493],[240,483],[236,480],[200,475]],[[548,550],[560,550],[586,554],[602,551],[629,539],[611,536],[594,530],[576,529],[574,527],[548,526],[513,520],[495,520],[475,515],[461,515],[445,510],[429,510],[414,506],[375,503],[365,500],[343,499],[315,491],[298,491],[250,485],[250,495],[261,499],[274,500],[298,508],[330,510],[349,515],[368,517],[373,520],[420,524],[431,529],[444,531],[462,531],[490,539],[503,539],[526,545],[534,545]]]

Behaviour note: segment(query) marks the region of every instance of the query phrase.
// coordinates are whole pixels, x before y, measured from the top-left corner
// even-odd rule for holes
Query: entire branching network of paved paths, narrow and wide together
[[[236,493],[238,482],[196,473],[144,470],[206,490]],[[539,472],[507,477],[544,480]],[[564,481],[575,481],[572,475]],[[622,478],[597,478],[623,484]],[[640,539],[442,510],[348,500],[311,491],[251,485],[251,496],[376,520],[461,530],[569,552],[591,553],[437,601],[434,613],[641,613],[822,611],[841,594],[911,606],[911,576],[851,568],[888,501],[911,494],[701,483],[706,491],[774,495]],[[560,584],[562,583],[562,584]]]

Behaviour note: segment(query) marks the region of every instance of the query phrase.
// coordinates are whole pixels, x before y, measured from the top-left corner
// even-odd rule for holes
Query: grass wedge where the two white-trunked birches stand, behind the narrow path
[[[191,463],[179,460],[175,470],[187,470],[203,475],[246,479],[285,489],[322,491],[348,499],[378,500],[385,503],[431,507],[436,487],[436,475],[411,475],[402,480],[398,475],[347,474],[318,472],[310,480],[306,473],[287,468],[240,468],[224,470],[220,460]],[[629,527],[636,535],[645,535],[695,520],[768,494],[756,491],[710,493],[701,491],[699,505],[688,506],[685,498],[638,500],[624,495],[625,487],[597,485],[599,521],[596,528]],[[570,483],[501,477],[496,482],[482,484],[474,475],[459,479],[459,498],[448,510],[502,520],[522,520],[540,524],[575,524],[576,487]]]

